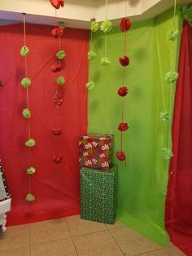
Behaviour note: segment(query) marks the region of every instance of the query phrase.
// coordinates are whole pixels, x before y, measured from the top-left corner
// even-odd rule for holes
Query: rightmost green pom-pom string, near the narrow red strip
[[[167,110],[164,110],[164,112],[161,112],[159,115],[159,118],[161,121],[164,121],[164,130],[166,130],[166,134],[164,135],[164,139],[166,141],[166,145],[164,148],[161,149],[162,156],[164,157],[164,160],[169,160],[171,157],[173,157],[172,150],[168,148],[168,142],[169,142],[169,136],[170,136],[170,111],[172,113],[172,109],[170,109],[170,101],[172,100],[173,97],[173,88],[172,86],[175,85],[177,82],[177,78],[179,77],[179,74],[175,70],[175,65],[174,65],[174,56],[176,55],[176,45],[175,42],[177,38],[179,37],[179,29],[177,29],[176,26],[176,0],[174,0],[174,11],[173,11],[173,18],[172,18],[172,29],[168,31],[168,41],[170,42],[172,46],[172,51],[171,51],[171,70],[168,71],[164,75],[164,81],[168,84],[169,86],[169,94],[168,94],[168,104],[167,104]],[[165,128],[167,126],[167,129]]]

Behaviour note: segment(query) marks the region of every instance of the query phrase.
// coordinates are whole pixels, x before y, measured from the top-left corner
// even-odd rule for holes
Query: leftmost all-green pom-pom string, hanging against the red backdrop
[[[23,13],[23,23],[24,23],[24,46],[20,49],[20,55],[24,58],[24,69],[25,69],[25,77],[21,80],[20,84],[24,87],[24,90],[26,90],[26,101],[27,101],[27,108],[24,108],[22,111],[22,115],[24,118],[28,121],[28,140],[25,142],[25,146],[28,147],[28,150],[30,151],[30,154],[32,154],[31,149],[35,146],[35,140],[31,138],[31,116],[32,113],[29,108],[29,86],[31,86],[31,79],[28,78],[28,65],[27,65],[27,56],[29,53],[28,46],[26,45],[26,23],[25,23],[25,13]],[[31,157],[30,157],[31,159]],[[28,194],[26,195],[26,201],[34,201],[35,196],[32,194],[32,188],[31,188],[31,176],[35,173],[34,167],[28,167],[26,170],[26,174],[28,175]]]

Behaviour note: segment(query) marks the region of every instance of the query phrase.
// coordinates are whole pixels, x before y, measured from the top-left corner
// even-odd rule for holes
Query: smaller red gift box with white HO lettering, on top
[[[111,165],[113,135],[79,136],[79,165],[108,170]]]

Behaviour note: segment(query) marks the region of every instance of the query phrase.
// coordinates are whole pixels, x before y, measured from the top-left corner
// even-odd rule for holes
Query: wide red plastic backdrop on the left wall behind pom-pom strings
[[[88,78],[87,52],[89,33],[81,29],[65,29],[62,48],[66,52],[62,73],[63,106],[55,108],[57,74],[50,71],[59,51],[59,40],[51,35],[53,28],[27,24],[29,108],[32,111],[32,138],[37,145],[24,146],[28,139],[28,121],[22,116],[26,108],[26,90],[20,86],[25,77],[24,58],[20,48],[24,45],[23,24],[0,27],[0,157],[7,176],[12,197],[12,210],[8,214],[10,225],[30,223],[79,213],[80,183],[78,167],[78,135],[87,126]],[[53,126],[60,126],[63,135],[52,135]],[[31,153],[30,153],[31,152]],[[63,163],[55,164],[52,157],[59,152]],[[25,201],[28,193],[28,175],[25,170],[34,166],[37,173],[31,181],[37,200]]]

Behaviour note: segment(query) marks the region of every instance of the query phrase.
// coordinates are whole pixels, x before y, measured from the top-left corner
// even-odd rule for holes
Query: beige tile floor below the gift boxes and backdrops
[[[181,256],[170,244],[161,248],[122,223],[106,225],[79,215],[8,227],[0,233],[0,256]]]

